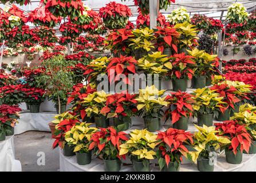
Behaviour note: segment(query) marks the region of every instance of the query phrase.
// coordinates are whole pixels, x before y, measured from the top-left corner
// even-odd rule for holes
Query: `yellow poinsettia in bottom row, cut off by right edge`
[[[244,124],[247,130],[247,133],[251,136],[251,146],[249,149],[249,154],[256,153],[256,107],[250,104],[245,104],[240,106],[240,110],[238,113],[235,113],[231,120],[238,121],[239,124]],[[243,150],[245,153],[246,151]]]

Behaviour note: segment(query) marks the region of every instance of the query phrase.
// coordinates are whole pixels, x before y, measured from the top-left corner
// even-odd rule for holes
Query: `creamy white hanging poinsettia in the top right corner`
[[[242,3],[233,3],[227,9],[226,19],[231,23],[243,23],[248,20],[248,13],[246,7]]]

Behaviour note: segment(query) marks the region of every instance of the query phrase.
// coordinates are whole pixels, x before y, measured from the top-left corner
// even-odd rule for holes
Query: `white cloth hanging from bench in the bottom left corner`
[[[0,141],[0,172],[21,172],[21,162],[15,160],[13,136]]]

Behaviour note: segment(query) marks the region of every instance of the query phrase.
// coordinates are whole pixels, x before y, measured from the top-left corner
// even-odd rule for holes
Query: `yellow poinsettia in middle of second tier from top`
[[[145,74],[159,74],[161,77],[172,69],[172,63],[167,55],[163,55],[161,51],[156,51],[140,58],[137,67]]]

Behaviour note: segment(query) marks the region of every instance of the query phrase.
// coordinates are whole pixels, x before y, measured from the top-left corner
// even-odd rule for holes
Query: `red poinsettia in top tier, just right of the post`
[[[156,27],[155,32],[157,46],[159,51],[164,51],[166,48],[172,48],[176,53],[178,53],[177,44],[180,34],[176,29],[171,27]]]

